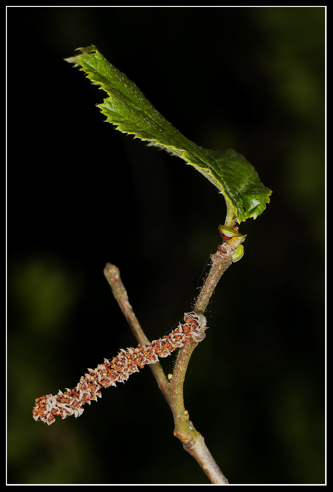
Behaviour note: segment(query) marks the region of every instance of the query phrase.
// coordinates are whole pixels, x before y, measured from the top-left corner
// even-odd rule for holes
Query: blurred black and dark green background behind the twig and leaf
[[[185,406],[231,484],[323,484],[325,8],[10,7],[7,40],[8,483],[208,484],[149,368],[77,420],[32,418],[35,398],[136,345],[106,262],[157,339],[191,310],[226,212],[191,166],[103,123],[106,94],[63,61],[94,44],[273,190],[241,225]]]

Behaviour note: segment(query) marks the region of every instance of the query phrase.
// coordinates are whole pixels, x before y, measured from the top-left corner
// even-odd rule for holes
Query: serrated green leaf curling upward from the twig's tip
[[[109,63],[96,46],[78,48],[77,56],[66,61],[81,66],[86,77],[101,86],[109,97],[98,107],[106,121],[123,133],[147,140],[194,166],[224,195],[227,204],[225,225],[232,227],[266,208],[271,190],[260,181],[251,164],[233,149],[213,151],[199,147],[183,136],[145,98],[123,73]]]

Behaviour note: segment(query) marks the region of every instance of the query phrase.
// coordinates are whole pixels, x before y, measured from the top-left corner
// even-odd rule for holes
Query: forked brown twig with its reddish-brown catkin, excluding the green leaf
[[[208,327],[204,312],[222,274],[233,261],[237,261],[233,260],[233,255],[245,239],[245,236],[238,233],[237,227],[227,231],[230,236],[225,235],[225,230],[221,231],[221,226],[220,232],[221,235],[224,234],[222,237],[225,242],[218,247],[214,255],[211,255],[211,268],[195,302],[193,312],[184,314],[184,324],[179,323],[168,336],[154,340],[152,343],[144,334],[128,301],[119,268],[110,263],[106,264],[104,275],[139,345],[136,348],[121,349],[118,356],[111,361],[104,359],[104,362],[95,369],[88,369],[88,373],[81,377],[76,388],[67,388],[64,393],[59,390],[57,395],[44,395],[37,398],[33,408],[35,420],[41,419],[51,425],[56,415],[63,419],[69,415],[78,417],[83,413],[85,403],[90,404],[91,401],[97,401],[98,397],[101,398],[102,387],[116,386],[117,382],[125,382],[130,374],[149,364],[171,408],[174,436],[197,460],[212,484],[229,484],[211,456],[203,436],[191,422],[183,399],[183,383],[189,360],[194,349],[206,337],[205,332]],[[173,373],[167,378],[158,358],[167,357],[176,349],[179,350]]]

